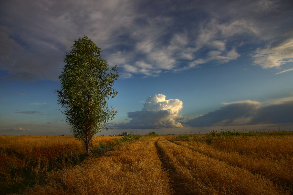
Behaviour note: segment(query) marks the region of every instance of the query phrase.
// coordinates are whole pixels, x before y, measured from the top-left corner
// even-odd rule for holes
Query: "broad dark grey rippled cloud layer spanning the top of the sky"
[[[123,78],[130,78],[226,63],[268,42],[281,44],[293,28],[290,0],[11,0],[0,7],[0,63],[9,73],[4,78],[28,81],[57,80],[64,51],[84,34],[104,50],[110,65],[125,72]]]

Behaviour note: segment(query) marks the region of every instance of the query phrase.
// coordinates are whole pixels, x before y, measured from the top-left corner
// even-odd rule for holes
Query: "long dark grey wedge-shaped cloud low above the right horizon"
[[[266,103],[238,101],[181,123],[194,127],[293,123],[292,110],[292,97]]]

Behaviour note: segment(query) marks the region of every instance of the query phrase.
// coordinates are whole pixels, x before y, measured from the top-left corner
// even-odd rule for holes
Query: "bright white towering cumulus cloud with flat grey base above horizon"
[[[176,120],[185,120],[179,115],[183,102],[179,99],[165,99],[163,94],[152,95],[147,98],[141,111],[129,112],[130,122],[112,122],[110,125],[121,129],[154,129],[166,127],[183,127]]]

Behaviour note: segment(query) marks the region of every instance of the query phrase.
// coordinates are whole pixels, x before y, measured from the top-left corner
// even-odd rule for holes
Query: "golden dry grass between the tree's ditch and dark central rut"
[[[122,143],[105,156],[53,171],[44,186],[23,194],[172,194],[155,147],[157,139]]]

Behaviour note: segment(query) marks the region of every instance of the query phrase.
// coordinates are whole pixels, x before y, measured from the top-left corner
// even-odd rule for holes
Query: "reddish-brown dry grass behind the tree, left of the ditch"
[[[114,145],[117,137],[95,137],[94,149]],[[54,168],[84,160],[84,149],[73,136],[0,136],[0,194],[38,184]]]

